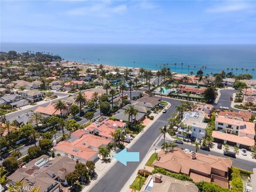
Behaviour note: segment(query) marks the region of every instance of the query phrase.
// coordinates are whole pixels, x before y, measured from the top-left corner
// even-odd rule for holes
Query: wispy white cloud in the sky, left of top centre
[[[69,10],[70,15],[91,15],[95,17],[110,17],[113,14],[123,13],[127,10],[125,4],[111,5],[110,3],[98,3]]]

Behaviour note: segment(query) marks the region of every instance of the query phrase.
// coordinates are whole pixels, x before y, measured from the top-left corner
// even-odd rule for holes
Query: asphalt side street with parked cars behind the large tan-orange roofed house
[[[171,142],[170,140],[165,140],[165,141],[166,142]],[[161,141],[159,141],[157,143],[157,146],[161,147],[163,142],[164,142],[164,140],[162,139]],[[190,149],[191,151],[196,151],[195,145],[193,145],[193,146],[192,145],[188,145],[185,142],[182,145],[178,144],[178,143],[176,143],[176,144],[179,146],[179,148]],[[209,152],[209,151],[205,151],[205,150],[199,149],[198,153],[205,154],[205,155],[211,154],[211,155],[215,155],[215,156],[230,158],[233,161],[233,166],[237,166],[237,167],[240,167],[240,168],[248,170],[248,171],[252,171],[252,169],[255,168],[255,166],[256,166],[256,164],[254,162],[250,162],[250,161],[247,161],[245,159],[227,157],[227,156],[223,155],[222,150],[220,150],[220,153],[218,153],[216,151],[210,151]]]

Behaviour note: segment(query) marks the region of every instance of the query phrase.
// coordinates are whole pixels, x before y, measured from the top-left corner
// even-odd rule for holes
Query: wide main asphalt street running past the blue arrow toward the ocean
[[[180,105],[180,101],[166,99],[171,101],[171,107],[167,113],[162,114],[157,121],[149,127],[149,129],[140,137],[140,139],[129,148],[129,151],[136,151],[140,153],[140,161],[145,157],[149,148],[159,136],[159,128],[166,124],[166,119],[171,117],[176,111],[175,106]],[[132,173],[137,169],[140,162],[128,162],[127,166],[117,162],[111,169],[104,175],[101,180],[92,188],[91,191],[95,192],[119,192],[125,185],[126,181],[131,177]],[[85,188],[86,190],[86,188]]]

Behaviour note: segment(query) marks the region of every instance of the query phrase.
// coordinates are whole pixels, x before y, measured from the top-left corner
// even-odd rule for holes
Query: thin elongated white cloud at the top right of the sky
[[[234,12],[250,9],[251,5],[246,3],[222,4],[206,9],[206,12]]]

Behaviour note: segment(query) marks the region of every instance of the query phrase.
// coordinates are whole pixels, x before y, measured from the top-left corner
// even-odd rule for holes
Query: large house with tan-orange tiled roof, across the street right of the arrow
[[[162,167],[166,171],[188,175],[194,182],[214,182],[228,188],[232,161],[214,155],[185,152],[180,148],[170,151],[159,151],[154,167]]]

